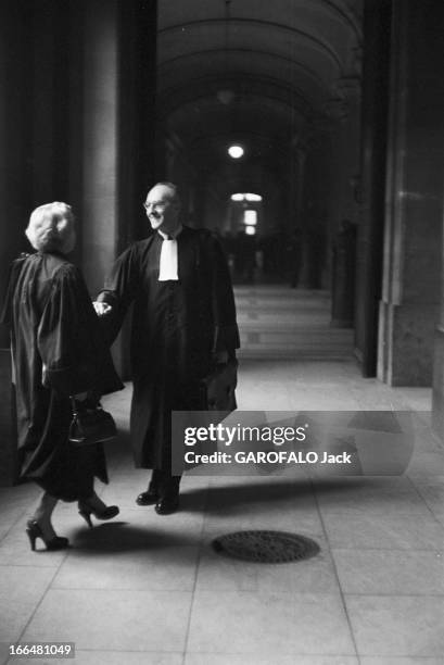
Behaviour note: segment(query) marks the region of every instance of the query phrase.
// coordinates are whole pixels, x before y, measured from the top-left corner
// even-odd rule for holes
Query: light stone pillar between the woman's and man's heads
[[[86,3],[84,46],[83,268],[92,293],[116,255],[117,0]]]

